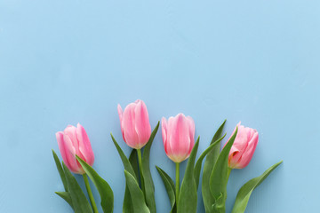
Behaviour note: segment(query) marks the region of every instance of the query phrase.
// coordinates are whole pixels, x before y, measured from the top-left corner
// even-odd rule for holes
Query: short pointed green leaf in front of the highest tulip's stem
[[[144,195],[138,185],[136,178],[132,176],[132,174],[126,170],[124,170],[124,176],[126,180],[126,184],[128,185],[132,204],[133,204],[133,212],[134,213],[150,213]]]

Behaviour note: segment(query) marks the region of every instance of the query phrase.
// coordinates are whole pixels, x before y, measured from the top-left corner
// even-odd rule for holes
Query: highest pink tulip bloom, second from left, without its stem
[[[117,108],[124,142],[134,149],[145,146],[151,135],[151,126],[145,103],[138,99],[126,106],[124,112],[120,105]]]

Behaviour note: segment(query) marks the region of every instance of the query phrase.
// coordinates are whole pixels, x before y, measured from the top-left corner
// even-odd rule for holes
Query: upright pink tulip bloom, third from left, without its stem
[[[183,162],[188,158],[195,145],[195,122],[184,114],[162,118],[162,135],[165,154],[173,162]]]

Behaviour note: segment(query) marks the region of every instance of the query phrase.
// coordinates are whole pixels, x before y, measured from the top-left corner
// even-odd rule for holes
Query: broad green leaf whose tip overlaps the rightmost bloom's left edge
[[[235,142],[237,127],[235,133],[229,139],[228,143],[222,149],[217,162],[212,170],[210,177],[210,190],[213,196],[212,210],[213,212],[225,213],[227,200],[227,184],[228,184],[228,154],[231,146]]]

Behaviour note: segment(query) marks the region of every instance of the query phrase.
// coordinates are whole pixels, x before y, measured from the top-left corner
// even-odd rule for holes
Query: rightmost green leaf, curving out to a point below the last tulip
[[[232,209],[232,213],[244,213],[244,210],[248,204],[250,195],[252,191],[262,183],[262,181],[268,177],[268,175],[279,166],[281,162],[277,162],[275,165],[271,166],[268,170],[266,170],[259,177],[252,178],[246,184],[244,184],[239,192],[236,194],[236,201],[234,208]]]

